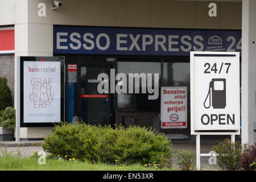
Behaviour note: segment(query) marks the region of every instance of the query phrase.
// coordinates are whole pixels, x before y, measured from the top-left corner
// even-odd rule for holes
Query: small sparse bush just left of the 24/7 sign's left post
[[[189,171],[196,166],[196,152],[193,150],[178,150],[176,156],[176,164],[181,170]]]

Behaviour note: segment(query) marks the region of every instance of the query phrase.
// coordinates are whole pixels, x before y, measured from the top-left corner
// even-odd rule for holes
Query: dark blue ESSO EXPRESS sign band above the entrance
[[[53,53],[189,56],[190,51],[241,53],[241,30],[53,26]]]

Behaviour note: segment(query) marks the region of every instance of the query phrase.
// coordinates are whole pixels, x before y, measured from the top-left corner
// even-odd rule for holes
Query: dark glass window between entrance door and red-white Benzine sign
[[[117,105],[118,108],[135,109],[135,110],[159,110],[160,109],[160,95],[156,100],[149,100],[148,96],[154,95],[155,88],[154,83],[159,84],[158,94],[160,94],[160,73],[161,63],[160,62],[140,62],[140,61],[118,61],[118,73],[125,73],[127,81],[127,93],[117,94]],[[134,78],[129,78],[129,73],[132,73]],[[138,73],[135,75],[134,73]],[[145,84],[148,79],[148,73],[152,74],[152,89],[153,93],[148,93],[148,84]],[[158,73],[158,80],[154,80],[154,73]],[[144,80],[143,80],[144,79]],[[139,80],[138,84],[135,84]],[[146,81],[145,81],[146,80]],[[118,82],[122,85],[122,82]],[[131,88],[132,86],[132,88]],[[151,86],[150,86],[151,87]],[[129,88],[132,93],[129,93]],[[139,90],[139,93],[135,91]],[[145,92],[146,90],[146,92]]]

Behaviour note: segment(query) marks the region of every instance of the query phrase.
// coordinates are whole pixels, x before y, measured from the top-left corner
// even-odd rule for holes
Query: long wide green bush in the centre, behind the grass
[[[104,163],[157,163],[164,166],[172,156],[171,140],[146,127],[71,125],[56,126],[42,147],[62,158]],[[67,157],[65,157],[67,155]]]

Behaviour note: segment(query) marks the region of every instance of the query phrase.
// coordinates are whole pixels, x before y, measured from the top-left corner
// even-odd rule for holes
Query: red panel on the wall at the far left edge
[[[14,29],[0,30],[0,51],[14,50]]]

